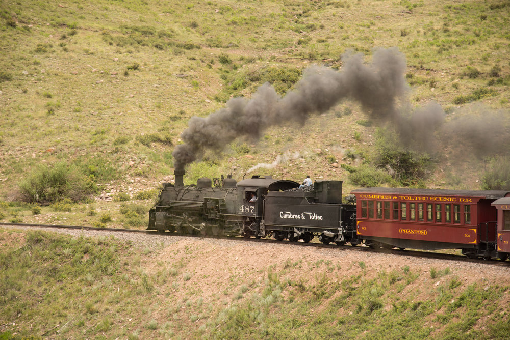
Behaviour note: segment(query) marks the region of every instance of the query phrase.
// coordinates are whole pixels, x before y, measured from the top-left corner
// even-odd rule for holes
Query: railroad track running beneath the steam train
[[[117,232],[117,233],[142,233],[142,234],[149,234],[149,235],[182,236],[182,237],[210,238],[210,239],[223,239],[223,240],[243,240],[246,242],[257,242],[257,243],[296,245],[296,246],[302,246],[302,247],[320,247],[320,248],[326,248],[326,249],[327,248],[342,249],[342,250],[350,250],[350,251],[365,251],[365,252],[372,252],[372,253],[399,254],[401,256],[416,257],[416,258],[428,258],[428,259],[469,262],[469,263],[483,263],[483,264],[488,264],[488,265],[493,265],[493,266],[510,267],[510,261],[469,259],[463,255],[458,255],[458,254],[445,254],[445,253],[423,251],[423,250],[407,250],[407,249],[396,250],[396,249],[383,249],[383,248],[372,249],[367,246],[357,246],[357,247],[353,247],[353,246],[349,246],[349,245],[339,246],[336,244],[322,244],[322,243],[314,243],[314,242],[306,243],[306,242],[278,241],[278,240],[274,240],[274,239],[262,239],[262,238],[257,239],[257,238],[213,236],[213,235],[201,235],[201,234],[194,234],[194,235],[177,234],[177,233],[146,231],[146,230],[137,230],[137,229],[100,228],[100,227],[95,227],[95,226],[0,222],[0,226],[2,226],[2,225],[19,226],[22,228],[80,229],[80,230],[109,231],[109,232]]]

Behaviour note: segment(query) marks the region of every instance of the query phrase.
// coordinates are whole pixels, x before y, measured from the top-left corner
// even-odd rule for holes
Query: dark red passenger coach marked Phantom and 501
[[[459,248],[468,257],[498,256],[497,210],[491,204],[510,192],[363,188],[352,193],[358,235],[370,247]]]

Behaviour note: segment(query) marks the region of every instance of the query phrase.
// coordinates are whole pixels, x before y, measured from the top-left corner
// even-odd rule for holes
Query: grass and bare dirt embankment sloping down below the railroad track
[[[505,268],[243,241],[141,248],[7,230],[0,240],[3,339],[506,339],[510,331]]]

